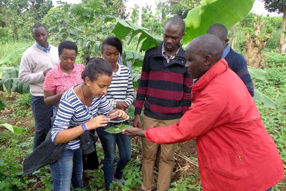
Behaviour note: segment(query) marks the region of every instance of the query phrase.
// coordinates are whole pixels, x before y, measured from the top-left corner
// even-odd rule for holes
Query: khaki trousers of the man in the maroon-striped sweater
[[[179,122],[180,119],[173,120],[157,120],[146,115],[143,115],[143,129],[147,130],[149,127],[169,126]],[[152,143],[146,138],[142,138],[143,146],[143,164],[142,164],[142,190],[151,191],[154,187],[154,162],[159,144]],[[162,144],[161,155],[159,162],[159,174],[157,182],[157,191],[167,191],[170,188],[172,170],[174,168],[175,159],[174,153],[177,144]]]

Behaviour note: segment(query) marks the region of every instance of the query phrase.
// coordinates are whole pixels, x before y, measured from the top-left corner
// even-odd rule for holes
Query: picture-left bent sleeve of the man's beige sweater
[[[19,81],[26,84],[34,84],[44,81],[45,76],[43,71],[37,73],[32,72],[33,70],[31,63],[29,63],[28,60],[22,56],[18,74]]]

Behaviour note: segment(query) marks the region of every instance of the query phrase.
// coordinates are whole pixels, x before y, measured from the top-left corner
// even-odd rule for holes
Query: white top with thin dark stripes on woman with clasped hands
[[[108,87],[105,95],[112,107],[114,106],[114,101],[124,101],[130,106],[135,99],[132,76],[128,67],[116,64],[118,65],[118,71],[116,73],[113,72],[111,85]],[[128,114],[128,110],[125,112]],[[120,123],[123,121],[125,119],[118,118],[110,122]]]

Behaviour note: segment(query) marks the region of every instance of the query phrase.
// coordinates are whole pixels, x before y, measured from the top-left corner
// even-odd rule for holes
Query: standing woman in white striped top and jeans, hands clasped
[[[106,98],[114,109],[125,110],[128,113],[128,107],[133,103],[135,98],[132,77],[128,67],[117,63],[119,54],[122,55],[122,44],[115,36],[110,36],[102,42],[102,56],[112,67],[112,82],[107,89]],[[128,120],[118,118],[114,121],[109,121],[108,127],[128,124]],[[98,128],[97,135],[100,138],[104,150],[104,180],[105,190],[109,190],[111,182],[120,181],[125,183],[122,177],[122,170],[125,168],[131,158],[130,137],[122,135],[122,133],[112,134],[103,131],[105,127]],[[118,146],[119,159],[116,164],[116,170],[113,175],[113,166],[115,159],[115,144]]]

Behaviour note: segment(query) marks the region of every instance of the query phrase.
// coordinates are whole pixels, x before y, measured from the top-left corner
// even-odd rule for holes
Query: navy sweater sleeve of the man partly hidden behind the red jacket
[[[239,58],[235,59],[235,64],[233,65],[233,71],[240,77],[243,83],[246,85],[248,92],[253,97],[254,96],[254,87],[251,80],[251,76],[247,69],[247,63],[242,55]]]

